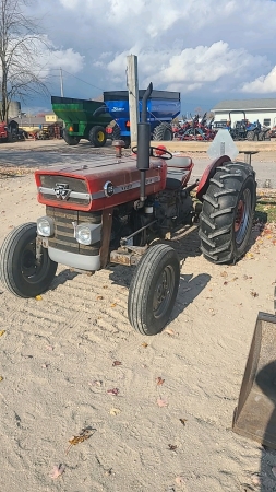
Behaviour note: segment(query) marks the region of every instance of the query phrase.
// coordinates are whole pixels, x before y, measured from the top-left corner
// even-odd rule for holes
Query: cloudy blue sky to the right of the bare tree
[[[68,97],[125,90],[133,54],[140,87],[181,92],[182,113],[276,97],[275,0],[37,0],[31,12],[52,47],[43,57],[52,95],[59,67]]]

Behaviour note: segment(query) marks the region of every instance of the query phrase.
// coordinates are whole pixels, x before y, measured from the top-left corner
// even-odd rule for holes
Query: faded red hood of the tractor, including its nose
[[[146,174],[146,195],[166,186],[167,164],[152,159]],[[136,155],[115,157],[95,155],[83,164],[69,164],[35,173],[38,201],[50,207],[97,211],[137,200],[140,171]]]

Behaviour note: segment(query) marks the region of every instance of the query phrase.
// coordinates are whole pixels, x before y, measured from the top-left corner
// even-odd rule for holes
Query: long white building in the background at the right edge
[[[245,118],[251,122],[259,119],[260,124],[266,127],[272,128],[276,125],[276,98],[221,101],[211,110],[215,114],[215,121],[230,119],[232,126],[235,121],[243,119],[242,112],[245,113]],[[229,118],[231,112],[235,113]]]

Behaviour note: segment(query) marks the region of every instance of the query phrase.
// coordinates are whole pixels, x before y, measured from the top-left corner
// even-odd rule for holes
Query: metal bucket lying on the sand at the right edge
[[[275,315],[257,315],[232,430],[276,449]]]

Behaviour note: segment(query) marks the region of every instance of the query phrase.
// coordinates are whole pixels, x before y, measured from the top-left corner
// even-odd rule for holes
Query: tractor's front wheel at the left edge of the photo
[[[57,271],[48,251],[41,248],[36,259],[36,223],[15,227],[5,237],[0,250],[0,279],[5,288],[20,297],[35,297],[47,291]]]

